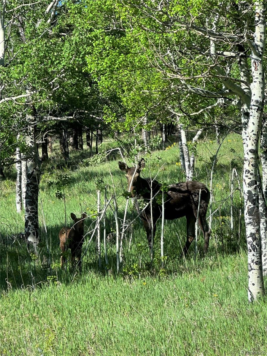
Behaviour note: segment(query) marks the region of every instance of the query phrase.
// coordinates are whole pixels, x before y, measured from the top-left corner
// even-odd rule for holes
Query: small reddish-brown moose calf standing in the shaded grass
[[[85,213],[82,214],[82,218],[78,219],[75,214],[71,213],[70,217],[74,221],[72,227],[63,227],[58,234],[60,241],[61,255],[61,268],[65,263],[64,252],[70,248],[72,255],[72,267],[74,267],[75,257],[77,258],[77,265],[81,269],[81,253],[84,241],[84,219],[87,217]]]

